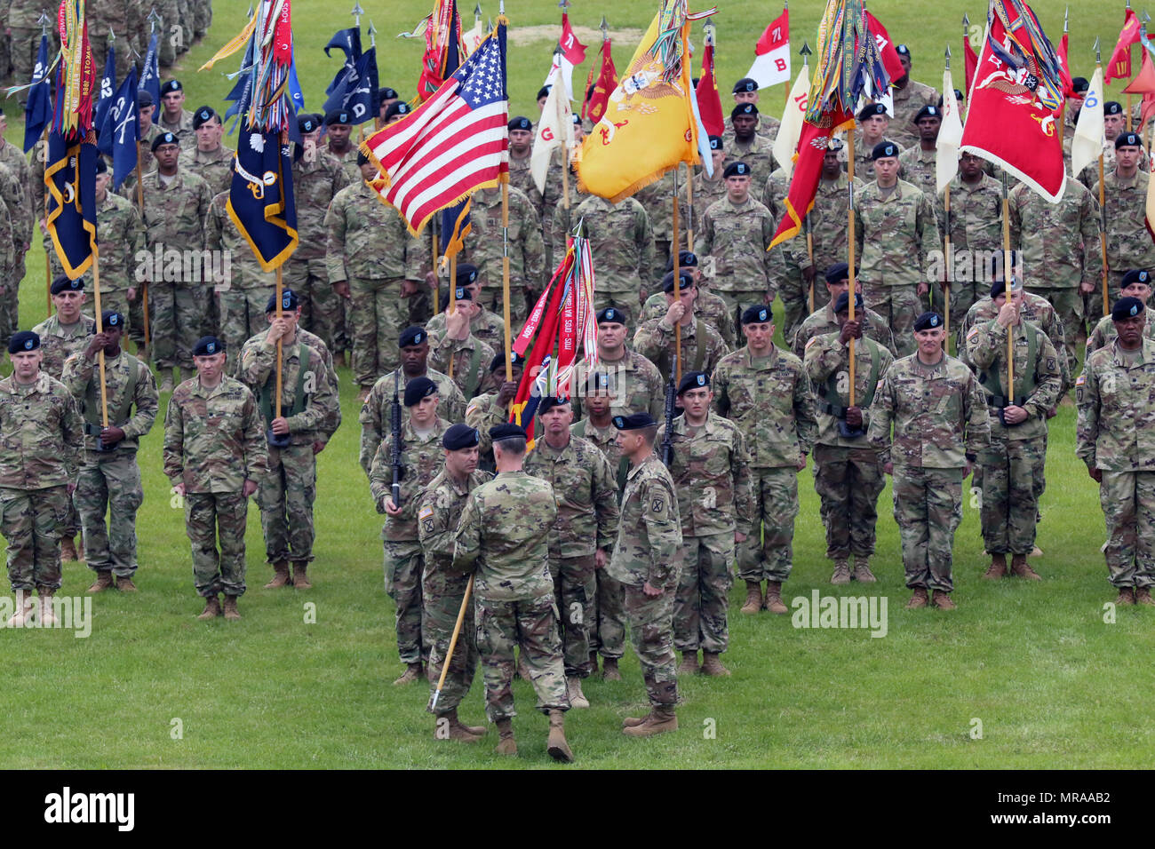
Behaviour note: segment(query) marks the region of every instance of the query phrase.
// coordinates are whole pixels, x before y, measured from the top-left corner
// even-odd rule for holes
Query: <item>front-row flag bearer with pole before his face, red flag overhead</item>
[[[826,556],[834,560],[830,583],[851,580],[873,583],[870,558],[874,553],[878,497],[886,476],[878,454],[866,440],[870,405],[879,379],[894,357],[863,333],[863,300],[855,295],[850,320],[850,293],[832,305],[839,322],[834,333],[813,336],[806,343],[806,377],[814,387],[818,438],[814,440],[814,490],[822,501]],[[850,342],[855,344],[855,397],[850,400]],[[850,571],[850,558],[855,568]]]

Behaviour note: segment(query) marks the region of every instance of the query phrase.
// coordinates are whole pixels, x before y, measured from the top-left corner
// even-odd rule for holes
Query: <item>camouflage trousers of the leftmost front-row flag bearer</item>
[[[84,561],[90,569],[132,578],[136,572],[136,511],[144,500],[136,452],[84,454],[73,497],[84,527]]]

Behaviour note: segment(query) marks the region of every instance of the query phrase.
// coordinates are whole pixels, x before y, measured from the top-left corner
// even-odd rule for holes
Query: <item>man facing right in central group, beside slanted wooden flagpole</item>
[[[445,656],[461,611],[468,579],[454,572],[454,534],[469,493],[487,482],[492,475],[477,469],[477,431],[469,425],[455,424],[441,437],[445,467],[430,481],[417,502],[417,535],[422,542],[425,567],[422,572],[422,635],[429,645],[430,706],[437,716],[434,739],[476,743],[486,729],[463,725],[457,718],[457,706],[469,692],[477,671],[477,627],[474,619],[474,599],[465,605],[465,617],[449,661],[441,695],[437,707],[433,693],[441,678]]]

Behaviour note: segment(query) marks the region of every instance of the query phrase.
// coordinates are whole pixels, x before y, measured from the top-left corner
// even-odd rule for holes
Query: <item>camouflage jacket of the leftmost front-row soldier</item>
[[[0,486],[43,490],[75,483],[84,430],[76,401],[40,372],[31,386],[0,379]]]

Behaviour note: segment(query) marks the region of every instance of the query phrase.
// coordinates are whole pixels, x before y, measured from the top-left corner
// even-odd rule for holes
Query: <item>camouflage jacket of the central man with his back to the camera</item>
[[[502,471],[469,493],[454,536],[455,572],[475,572],[479,602],[515,602],[553,594],[550,528],[553,487],[524,471]]]

